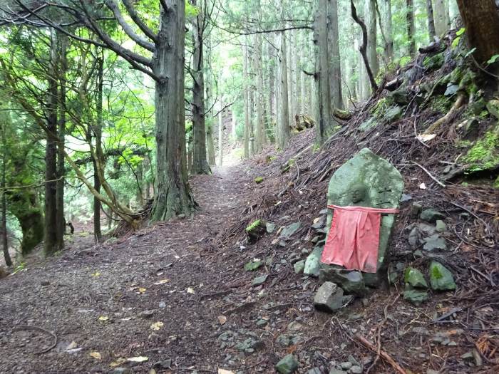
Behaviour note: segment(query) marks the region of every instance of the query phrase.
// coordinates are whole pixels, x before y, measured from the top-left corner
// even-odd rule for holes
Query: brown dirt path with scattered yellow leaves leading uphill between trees
[[[227,269],[214,238],[247,205],[248,180],[240,166],[215,168],[192,178],[193,218],[100,246],[88,237],[0,281],[0,373],[216,373]]]

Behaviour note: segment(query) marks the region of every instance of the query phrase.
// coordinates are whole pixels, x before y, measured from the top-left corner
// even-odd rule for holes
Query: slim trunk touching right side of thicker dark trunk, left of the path
[[[63,249],[64,232],[66,231],[66,219],[64,218],[64,175],[66,170],[64,167],[64,146],[66,137],[66,71],[68,70],[67,49],[68,38],[63,33],[57,32],[58,50],[61,58],[59,72],[59,96],[58,96],[58,150],[57,150],[57,237],[60,247]]]

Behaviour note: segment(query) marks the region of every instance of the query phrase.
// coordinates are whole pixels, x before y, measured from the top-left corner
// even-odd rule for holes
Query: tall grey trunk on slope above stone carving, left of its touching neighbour
[[[317,142],[321,144],[331,129],[331,85],[329,80],[329,43],[327,36],[327,6],[329,0],[319,0],[314,20],[316,56],[315,97],[317,112]]]

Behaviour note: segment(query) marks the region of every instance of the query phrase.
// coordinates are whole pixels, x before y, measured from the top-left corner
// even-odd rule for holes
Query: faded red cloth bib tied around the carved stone
[[[327,207],[334,213],[321,262],[376,273],[381,213],[398,213],[398,209]]]

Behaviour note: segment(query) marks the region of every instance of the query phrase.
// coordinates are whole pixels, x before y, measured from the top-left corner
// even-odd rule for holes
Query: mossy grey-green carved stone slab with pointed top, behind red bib
[[[364,189],[359,196],[356,189],[361,185]],[[368,148],[364,148],[357,155],[341,166],[329,182],[327,193],[327,204],[339,207],[351,205],[376,207],[376,208],[398,208],[403,192],[403,178],[390,162],[375,155]],[[355,202],[354,202],[355,200]],[[332,210],[327,215],[326,229],[331,227]],[[375,285],[379,276],[386,271],[386,250],[388,249],[391,230],[395,222],[395,214],[384,214],[381,216],[381,227],[379,234],[378,266],[376,274],[364,274],[367,285]]]

